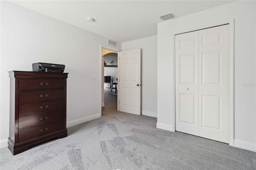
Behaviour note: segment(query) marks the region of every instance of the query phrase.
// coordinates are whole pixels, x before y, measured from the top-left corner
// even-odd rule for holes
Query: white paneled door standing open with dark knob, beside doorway
[[[140,49],[118,53],[118,98],[119,111],[140,115],[141,54]]]

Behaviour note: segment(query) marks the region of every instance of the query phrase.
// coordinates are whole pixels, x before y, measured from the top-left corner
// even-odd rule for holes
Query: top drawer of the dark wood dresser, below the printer
[[[64,79],[20,79],[19,90],[60,89],[64,88]]]

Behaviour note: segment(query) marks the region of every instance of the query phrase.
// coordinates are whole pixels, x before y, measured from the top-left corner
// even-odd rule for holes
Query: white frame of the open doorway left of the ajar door
[[[100,44],[100,117],[102,116],[101,108],[103,107],[102,106],[102,86],[104,86],[104,85],[102,85],[102,67],[104,66],[104,65],[102,65],[102,48],[109,49],[109,50],[116,51],[116,52],[122,51],[121,49],[118,49],[118,48],[109,47],[107,45]],[[117,68],[119,69],[118,66],[117,66]],[[118,77],[118,75],[117,75],[117,77]],[[117,93],[117,97],[118,97],[118,93]],[[118,103],[117,103],[117,106],[118,106]]]

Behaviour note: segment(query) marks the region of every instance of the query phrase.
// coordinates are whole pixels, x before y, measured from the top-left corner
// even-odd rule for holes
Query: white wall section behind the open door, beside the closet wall
[[[123,51],[138,48],[142,49],[142,115],[157,117],[157,36],[122,43]]]

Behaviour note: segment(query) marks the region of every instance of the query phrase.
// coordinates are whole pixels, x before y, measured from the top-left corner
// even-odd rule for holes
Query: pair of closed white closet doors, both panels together
[[[176,130],[228,143],[229,25],[175,35]]]

